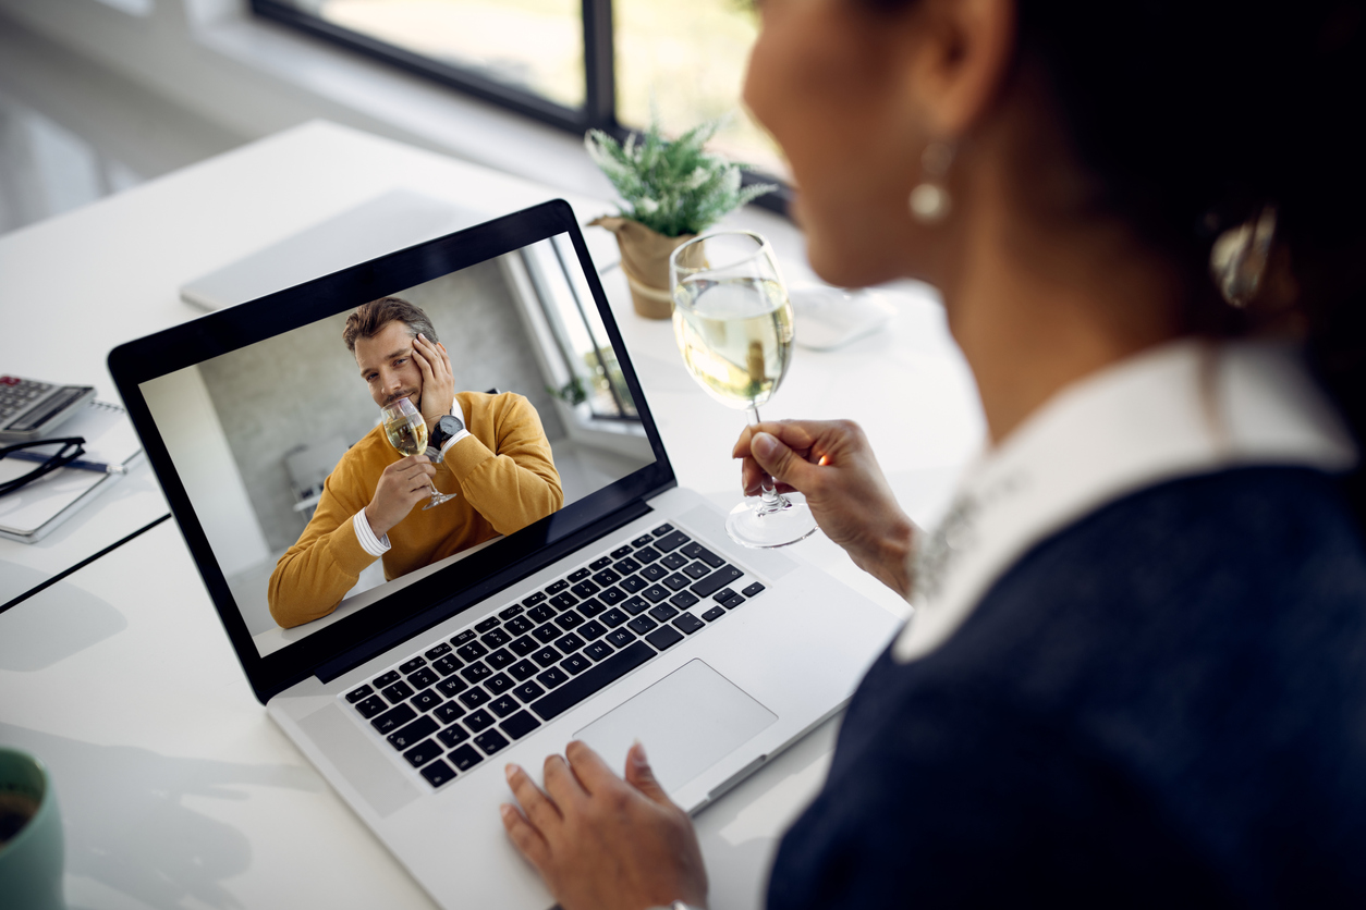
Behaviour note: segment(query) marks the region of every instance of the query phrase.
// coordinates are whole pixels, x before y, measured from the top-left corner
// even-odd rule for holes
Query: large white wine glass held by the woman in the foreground
[[[792,304],[773,247],[749,231],[688,240],[669,258],[673,334],[683,363],[713,398],[749,412],[777,390],[792,359]],[[746,547],[783,547],[810,536],[805,502],[779,495],[764,475],[761,495],[731,510],[725,529]]]

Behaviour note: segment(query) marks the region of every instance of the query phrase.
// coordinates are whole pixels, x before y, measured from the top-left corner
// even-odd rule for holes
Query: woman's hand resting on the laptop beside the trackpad
[[[503,806],[503,827],[564,910],[645,910],[683,900],[706,906],[706,869],[687,813],[665,795],[641,744],[626,779],[596,752],[571,742],[545,760],[545,793],[508,765],[522,804]]]

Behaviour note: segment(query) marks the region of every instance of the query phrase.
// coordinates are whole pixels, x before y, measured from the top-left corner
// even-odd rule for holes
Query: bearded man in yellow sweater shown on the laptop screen
[[[564,502],[550,443],[519,394],[455,392],[445,345],[418,307],[373,300],[342,336],[378,407],[408,398],[428,426],[428,454],[403,457],[377,426],[342,457],[322,498],[270,576],[270,615],[296,626],[332,613],[378,558],[398,578]],[[423,510],[432,482],[455,499]]]

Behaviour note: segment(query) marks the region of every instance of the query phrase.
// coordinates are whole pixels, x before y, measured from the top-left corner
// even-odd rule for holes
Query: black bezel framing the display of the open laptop
[[[451,573],[438,572],[404,588],[403,596],[395,598],[385,608],[376,610],[373,606],[378,604],[373,604],[275,654],[261,656],[157,431],[141,385],[557,235],[568,235],[578,254],[593,302],[654,452],[654,463],[463,559],[459,574],[475,576],[474,581],[452,587]],[[574,210],[563,199],[378,256],[119,345],[109,353],[109,372],[238,660],[262,704],[310,675],[332,677],[348,664],[355,666],[369,659],[395,644],[395,634],[399,632],[404,636],[414,634],[482,602],[496,589],[540,570],[575,546],[641,514],[645,510],[643,499],[676,484],[673,468],[645,402]]]

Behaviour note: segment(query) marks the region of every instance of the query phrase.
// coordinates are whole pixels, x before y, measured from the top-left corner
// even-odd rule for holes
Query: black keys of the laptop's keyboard
[[[441,787],[764,591],[744,574],[664,524],[339,697]]]

